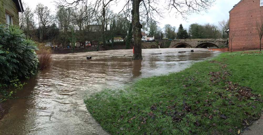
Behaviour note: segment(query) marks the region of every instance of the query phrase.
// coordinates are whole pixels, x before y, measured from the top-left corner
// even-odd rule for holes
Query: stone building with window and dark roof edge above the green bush
[[[19,25],[19,12],[23,12],[21,0],[0,0],[0,23]]]

